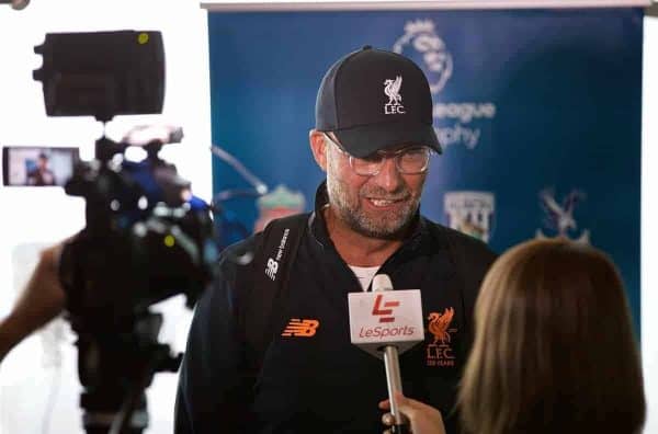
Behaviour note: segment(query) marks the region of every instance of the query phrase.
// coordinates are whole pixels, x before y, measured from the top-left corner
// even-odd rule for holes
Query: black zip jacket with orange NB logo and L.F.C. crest
[[[290,270],[287,299],[273,312],[282,324],[318,321],[315,334],[277,332],[262,359],[254,355],[246,343],[245,306],[257,296],[250,278],[265,267],[235,259],[258,250],[262,232],[225,250],[218,277],[194,312],[179,378],[177,434],[384,431],[377,408],[387,398],[384,364],[350,342],[348,293],[362,288],[329,239],[320,212],[326,202],[321,185]],[[440,409],[447,433],[457,432],[454,403],[473,339],[473,308],[495,258],[483,242],[417,216],[415,232],[378,271],[395,288],[421,289],[426,341],[400,355],[402,389]],[[446,311],[454,313],[440,339],[430,317]]]

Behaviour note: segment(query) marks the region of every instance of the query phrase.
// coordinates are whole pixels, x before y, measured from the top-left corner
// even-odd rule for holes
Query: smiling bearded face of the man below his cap
[[[418,210],[427,176],[401,174],[387,158],[376,175],[354,173],[349,157],[327,140],[327,191],[337,216],[366,237],[397,238]]]

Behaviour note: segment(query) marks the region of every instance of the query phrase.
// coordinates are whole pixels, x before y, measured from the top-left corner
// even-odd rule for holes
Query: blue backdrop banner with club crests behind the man
[[[498,252],[557,235],[603,249],[639,333],[642,10],[209,13],[208,24],[213,141],[280,186],[256,202],[214,159],[225,242],[313,206],[318,85],[373,45],[413,59],[432,88],[444,152],[423,214]]]

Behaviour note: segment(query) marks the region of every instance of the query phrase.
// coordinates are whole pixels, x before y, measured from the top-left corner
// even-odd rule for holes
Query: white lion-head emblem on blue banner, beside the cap
[[[445,43],[436,35],[434,23],[431,20],[408,22],[405,34],[396,41],[393,50],[402,54],[407,46],[413,47],[421,55],[429,76],[430,91],[440,92],[452,76],[453,59]]]

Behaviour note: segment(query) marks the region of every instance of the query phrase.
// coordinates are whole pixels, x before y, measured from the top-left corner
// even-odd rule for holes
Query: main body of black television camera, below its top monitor
[[[216,260],[213,221],[174,165],[156,152],[80,162],[65,191],[86,199],[87,226],[60,261],[68,310],[89,317],[84,327],[103,330],[177,294],[194,304]]]

